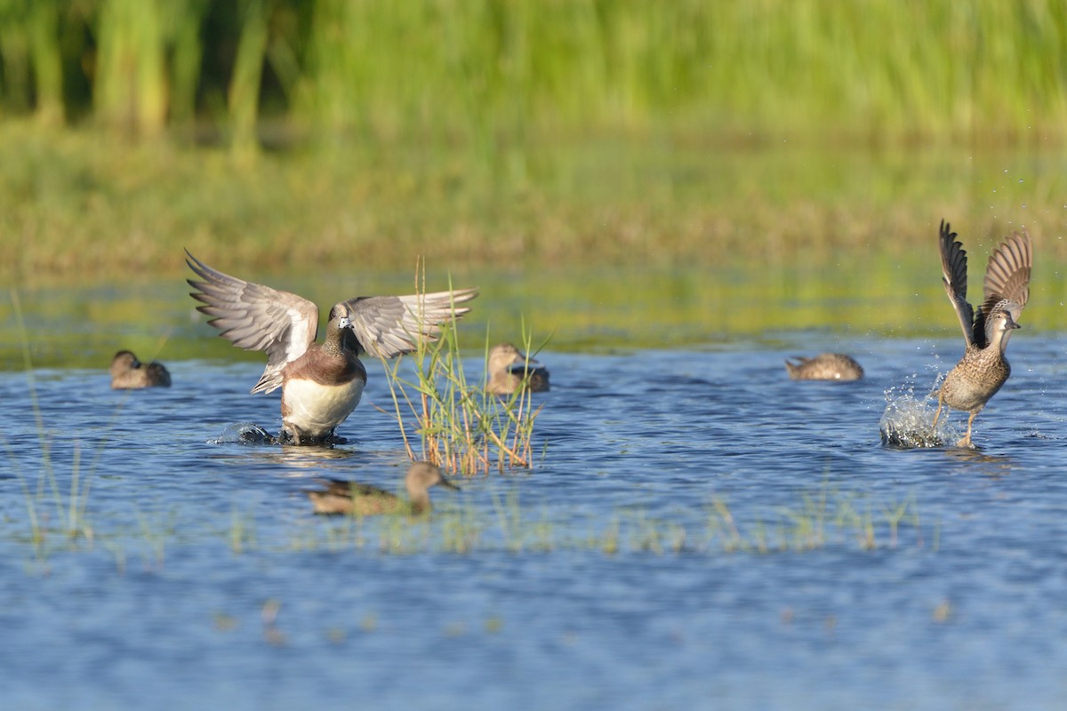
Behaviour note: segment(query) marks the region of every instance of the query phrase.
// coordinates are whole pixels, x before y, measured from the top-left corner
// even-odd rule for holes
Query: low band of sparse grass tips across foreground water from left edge
[[[102,549],[122,571],[129,559],[145,567],[165,565],[166,551],[211,540],[235,555],[325,550],[410,555],[416,553],[475,554],[599,552],[640,554],[782,554],[827,548],[874,551],[901,546],[940,548],[941,528],[923,521],[913,497],[878,502],[872,497],[824,484],[801,492],[796,506],[774,512],[742,513],[724,499],[713,498],[701,518],[695,512],[652,516],[641,508],[623,508],[587,524],[568,520],[566,507],[546,510],[521,504],[517,496],[499,499],[492,507],[469,501],[442,501],[432,517],[405,515],[344,516],[330,519],[308,515],[300,522],[270,534],[251,510],[235,507],[228,524],[190,531],[178,508],[134,511],[134,520],[110,520],[81,526],[95,535],[69,535],[62,526],[34,522],[27,537],[20,522],[3,521],[0,535],[28,543],[32,561],[47,566],[63,553]]]

